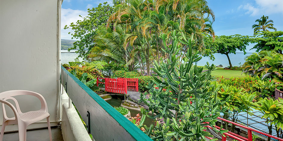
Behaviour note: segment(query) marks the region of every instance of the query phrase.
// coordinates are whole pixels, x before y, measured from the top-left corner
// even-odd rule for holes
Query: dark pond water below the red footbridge
[[[123,97],[117,96],[117,95],[112,95],[112,99],[106,101],[108,104],[110,104],[112,107],[120,107],[122,100],[124,99]],[[141,111],[137,111],[137,110],[132,110],[132,109],[128,109],[131,112],[131,116],[135,117],[137,116],[137,114],[139,114],[140,116],[142,116]],[[150,119],[148,117],[145,118],[145,122],[144,125],[146,125],[147,127],[149,127],[151,124],[155,125],[155,122],[153,119]]]

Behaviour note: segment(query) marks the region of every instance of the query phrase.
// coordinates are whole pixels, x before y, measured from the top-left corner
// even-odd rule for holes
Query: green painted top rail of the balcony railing
[[[61,66],[62,70],[67,73],[83,90],[85,90],[107,113],[110,114],[135,140],[137,141],[152,141],[144,132],[130,122],[126,117],[115,110],[110,104],[104,101],[94,91],[79,81],[73,74]],[[62,73],[62,72],[61,72]]]

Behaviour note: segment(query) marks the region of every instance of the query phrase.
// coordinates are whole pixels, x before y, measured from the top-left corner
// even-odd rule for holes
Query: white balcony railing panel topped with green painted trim
[[[151,140],[62,66],[61,83],[95,140]]]

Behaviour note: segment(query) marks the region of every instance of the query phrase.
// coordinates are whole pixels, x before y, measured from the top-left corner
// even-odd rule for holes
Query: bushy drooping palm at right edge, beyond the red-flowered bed
[[[243,72],[251,76],[260,76],[263,80],[271,78],[283,82],[283,55],[274,51],[261,51],[245,58]]]

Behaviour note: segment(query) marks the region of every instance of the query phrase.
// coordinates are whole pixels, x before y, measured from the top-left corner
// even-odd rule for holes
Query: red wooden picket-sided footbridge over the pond
[[[103,81],[104,82],[101,82]],[[138,91],[138,79],[137,78],[100,78],[96,79],[96,85],[105,84],[105,91],[128,94],[128,91]]]

